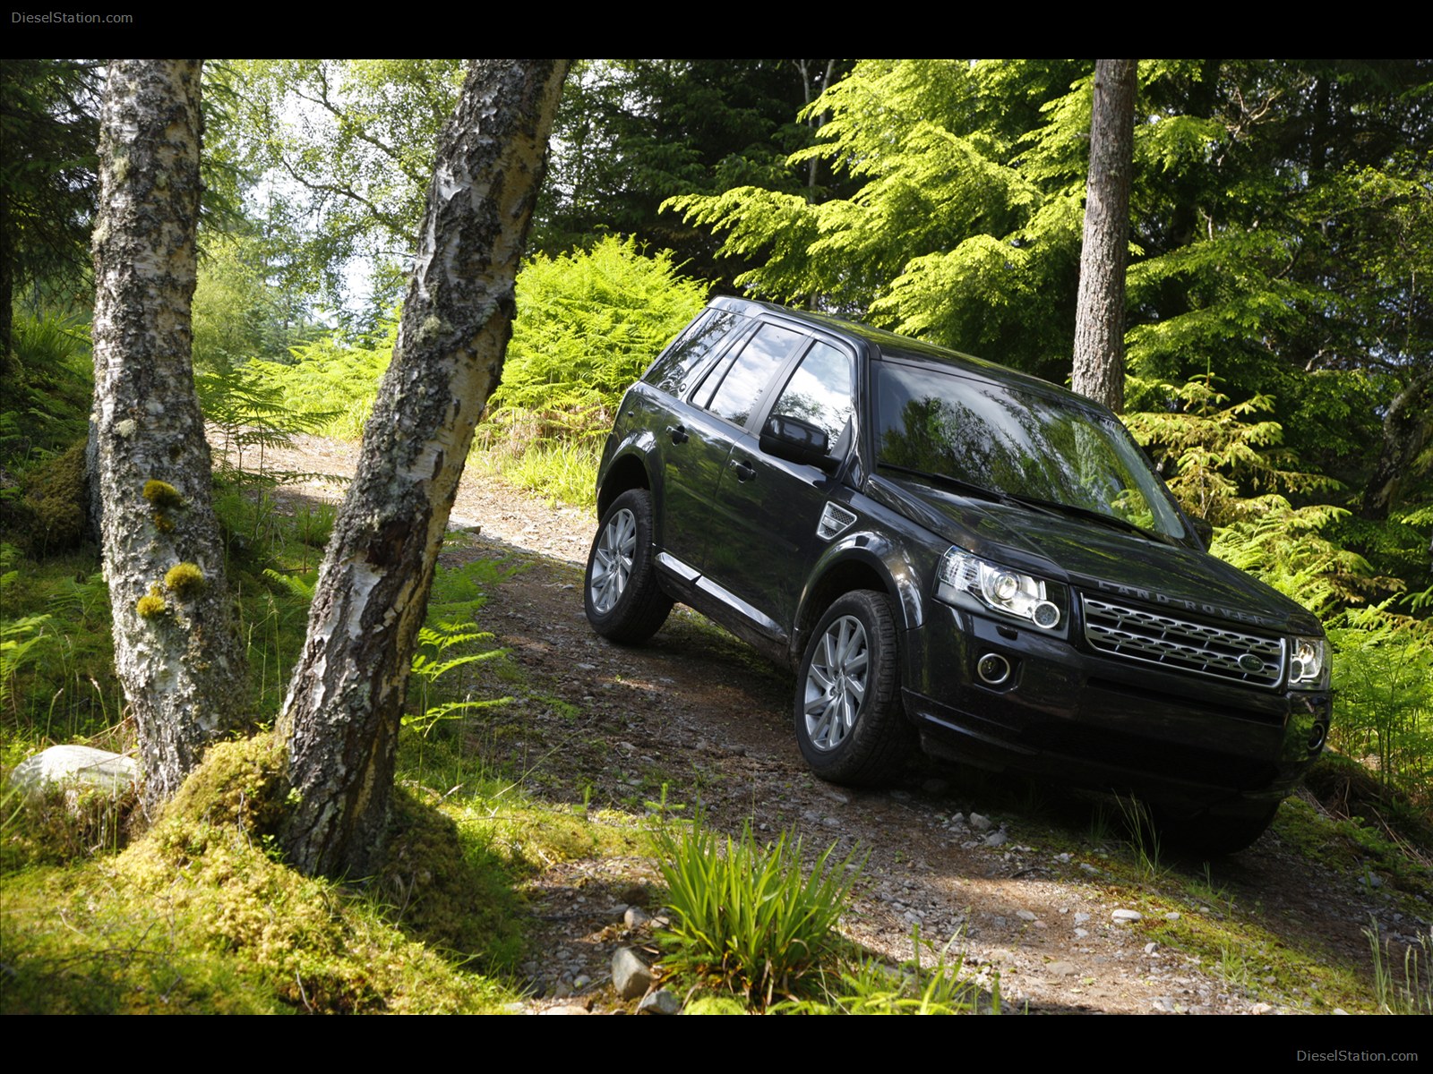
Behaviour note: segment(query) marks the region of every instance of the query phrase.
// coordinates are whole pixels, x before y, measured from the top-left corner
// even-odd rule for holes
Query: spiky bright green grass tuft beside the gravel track
[[[724,841],[698,821],[655,835],[672,924],[663,962],[767,1007],[798,994],[838,947],[834,932],[860,866],[835,845],[802,874],[801,841],[758,846],[748,823]]]

